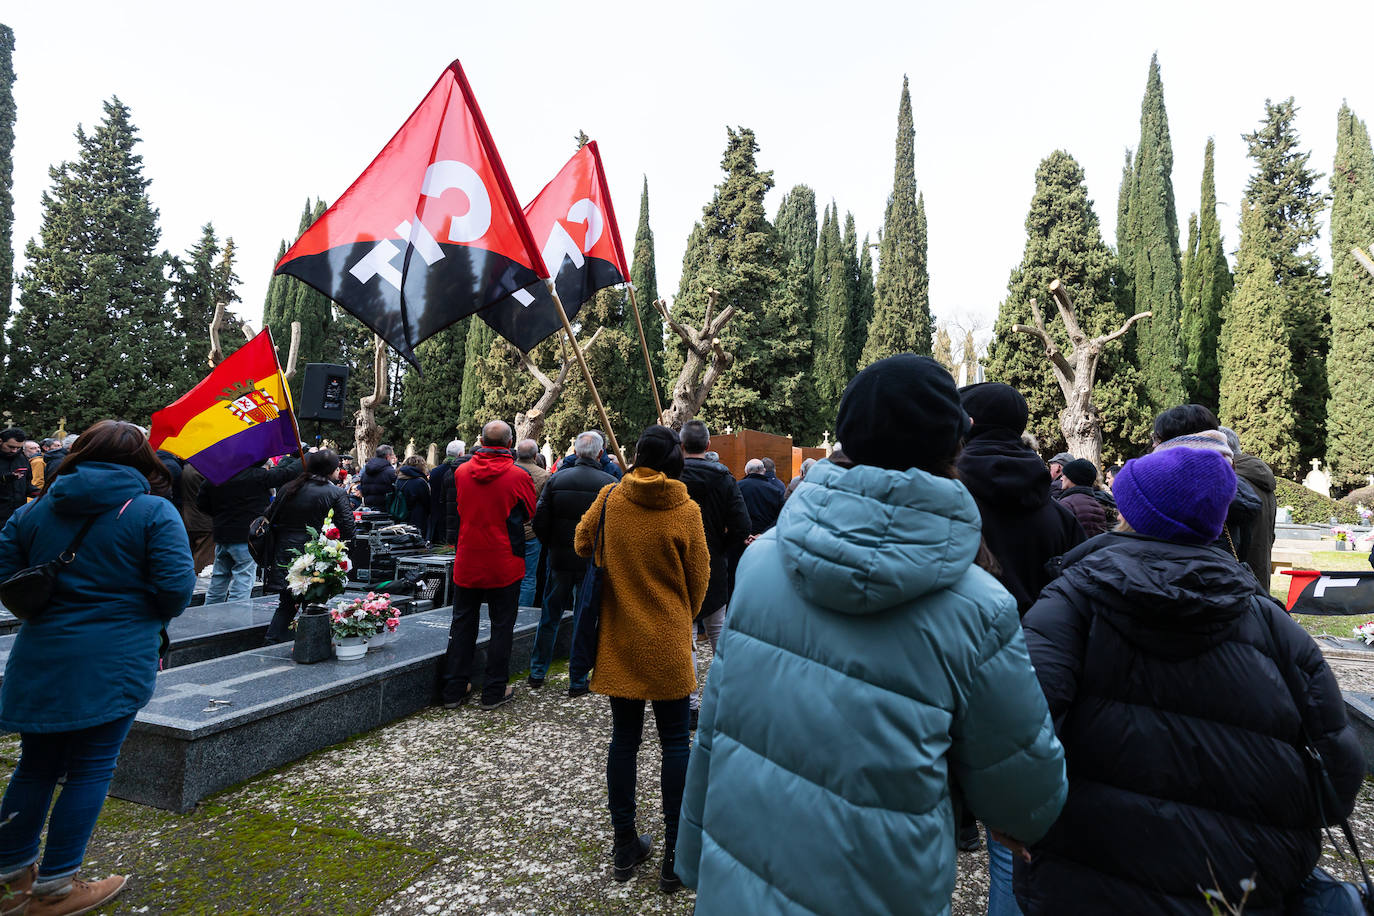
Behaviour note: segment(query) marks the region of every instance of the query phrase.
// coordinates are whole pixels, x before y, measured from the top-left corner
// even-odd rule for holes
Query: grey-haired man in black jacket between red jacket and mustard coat
[[[573,536],[577,523],[596,501],[603,486],[616,478],[600,470],[600,456],[605,444],[599,433],[587,431],[573,442],[577,463],[563,467],[548,478],[534,508],[534,534],[548,555],[548,586],[544,589],[544,612],[534,630],[534,651],[529,658],[529,685],[540,688],[554,661],[554,644],[558,641],[558,625],[563,611],[573,607],[573,592],[581,585],[587,573],[587,560],[573,549]],[[573,619],[577,629],[577,619]],[[567,687],[569,696],[587,694],[587,678]]]

